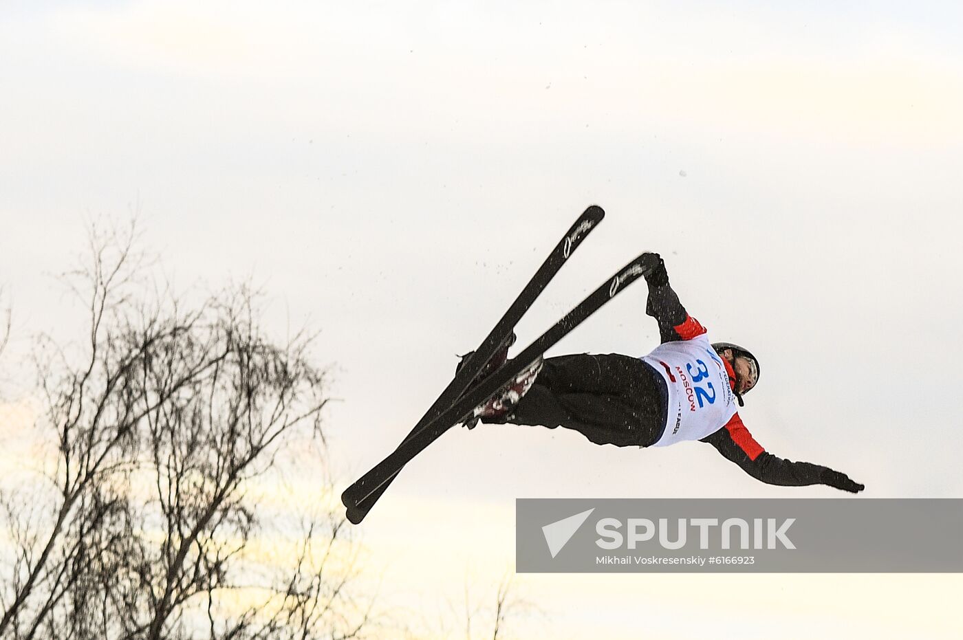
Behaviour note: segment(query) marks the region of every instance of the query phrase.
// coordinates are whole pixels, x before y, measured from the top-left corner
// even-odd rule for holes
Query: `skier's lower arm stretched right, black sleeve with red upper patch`
[[[739,414],[726,422],[725,426],[702,439],[737,465],[742,471],[768,484],[784,486],[803,486],[825,484],[850,493],[862,491],[864,486],[849,479],[849,476],[828,467],[809,462],[794,462],[778,458],[759,445],[742,424]]]

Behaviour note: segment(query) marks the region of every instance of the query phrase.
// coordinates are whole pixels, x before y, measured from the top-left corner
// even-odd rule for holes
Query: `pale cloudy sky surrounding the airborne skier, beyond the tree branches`
[[[963,10],[784,4],[5,2],[14,337],[63,326],[46,274],[85,221],[136,209],[178,284],[253,274],[279,331],[321,329],[344,487],[599,204],[520,345],[659,251],[710,335],[759,356],[740,413],[764,447],[861,498],[963,498]],[[646,353],[644,298],[550,355]],[[515,498],[842,496],[759,483],[699,443],[483,426],[419,456],[361,532],[386,602],[418,609],[510,571]],[[520,637],[963,632],[958,576],[520,582],[548,614]]]

